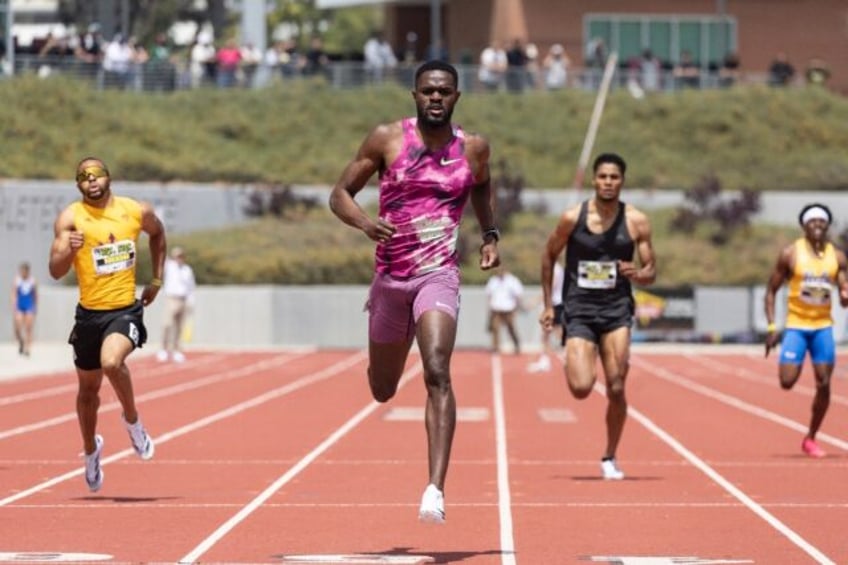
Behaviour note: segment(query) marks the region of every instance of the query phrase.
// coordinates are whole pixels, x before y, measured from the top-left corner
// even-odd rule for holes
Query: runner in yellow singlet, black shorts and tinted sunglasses
[[[103,161],[80,161],[76,180],[82,199],[56,218],[50,275],[59,279],[73,267],[79,281],[79,304],[68,341],[79,380],[77,416],[86,454],[85,480],[96,492],[103,484],[103,437],[96,433],[103,375],[121,403],[136,453],[142,459],[153,457],[153,440],[136,410],[126,358],[147,339],[144,306],[153,302],[162,285],[166,242],[162,222],[149,204],[112,194]],[[149,236],[153,279],[137,299],[136,245],[142,231]]]

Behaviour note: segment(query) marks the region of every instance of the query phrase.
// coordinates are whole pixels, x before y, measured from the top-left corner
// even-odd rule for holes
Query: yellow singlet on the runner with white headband
[[[786,327],[817,330],[833,324],[831,292],[839,264],[833,245],[825,245],[817,257],[805,238],[795,241],[795,266],[789,278]]]

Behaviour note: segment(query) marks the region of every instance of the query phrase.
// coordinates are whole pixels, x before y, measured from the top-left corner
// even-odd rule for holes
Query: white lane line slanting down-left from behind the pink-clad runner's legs
[[[398,390],[403,388],[415,375],[421,372],[421,364],[418,363],[408,369],[403,376],[401,377],[400,383],[398,383]],[[330,449],[333,445],[335,445],[340,439],[342,439],[348,432],[358,426],[362,421],[367,418],[374,410],[379,408],[381,404],[376,401],[369,402],[364,408],[362,408],[359,412],[357,412],[352,418],[350,418],[347,422],[345,422],[340,428],[338,428],[335,432],[330,434],[327,439],[318,444],[315,449],[306,454],[303,459],[298,461],[294,466],[292,466],[288,471],[286,471],[283,475],[281,475],[276,481],[271,483],[271,485],[266,488],[264,491],[259,493],[259,496],[251,500],[248,504],[242,507],[236,514],[234,514],[229,520],[221,524],[218,529],[212,532],[209,537],[200,542],[194,549],[188,552],[184,557],[179,559],[178,563],[194,563],[196,562],[201,555],[209,551],[213,545],[221,541],[230,531],[238,526],[241,522],[243,522],[248,516],[250,516],[255,510],[257,510],[262,504],[271,498],[278,490],[284,487],[289,481],[295,478],[301,471],[306,469],[309,465],[311,465],[315,459],[318,458],[322,453]]]

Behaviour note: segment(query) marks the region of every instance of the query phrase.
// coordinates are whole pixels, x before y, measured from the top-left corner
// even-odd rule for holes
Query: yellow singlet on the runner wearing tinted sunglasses
[[[80,304],[90,310],[115,310],[135,302],[136,242],[141,205],[113,196],[106,208],[71,204],[74,226],[85,242],[74,257]]]

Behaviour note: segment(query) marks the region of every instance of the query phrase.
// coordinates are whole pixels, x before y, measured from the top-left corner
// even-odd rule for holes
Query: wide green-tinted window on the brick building
[[[716,68],[725,55],[736,51],[737,42],[735,18],[710,14],[588,14],[583,32],[584,45],[601,39],[610,51],[618,52],[622,64],[648,48],[668,64],[688,51],[699,66]]]

